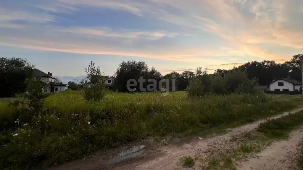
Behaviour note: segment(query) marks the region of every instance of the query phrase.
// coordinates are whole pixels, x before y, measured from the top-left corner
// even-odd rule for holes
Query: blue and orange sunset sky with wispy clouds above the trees
[[[303,53],[302,0],[1,0],[0,57],[64,83],[95,62],[141,60],[161,74]]]

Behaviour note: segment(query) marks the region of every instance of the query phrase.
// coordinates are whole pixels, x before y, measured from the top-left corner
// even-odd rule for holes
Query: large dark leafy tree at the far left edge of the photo
[[[10,97],[26,90],[25,80],[31,77],[33,65],[22,58],[0,58],[0,97]]]

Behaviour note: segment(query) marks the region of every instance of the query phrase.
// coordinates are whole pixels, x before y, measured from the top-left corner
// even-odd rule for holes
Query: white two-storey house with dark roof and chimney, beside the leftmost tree
[[[55,83],[55,77],[52,76],[52,73],[47,72],[47,74],[41,70],[33,69],[33,75],[41,77],[41,80],[46,84],[46,93],[51,92],[60,92],[67,90],[68,85]]]

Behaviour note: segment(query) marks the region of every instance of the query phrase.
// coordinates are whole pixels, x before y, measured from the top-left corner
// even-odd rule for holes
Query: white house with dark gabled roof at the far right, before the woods
[[[300,91],[302,83],[300,81],[288,78],[279,78],[273,80],[268,90],[270,91]]]

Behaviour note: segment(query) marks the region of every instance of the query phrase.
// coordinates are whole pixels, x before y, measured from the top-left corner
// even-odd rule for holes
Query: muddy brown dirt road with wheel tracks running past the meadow
[[[273,119],[285,116],[289,113],[295,113],[303,108],[292,110],[291,112],[285,112],[283,114],[272,117]],[[264,120],[259,120],[254,123],[250,123],[244,126],[239,126],[229,131],[223,135],[211,137],[208,139],[195,139],[182,143],[181,145],[172,145],[164,146],[158,149],[146,149],[145,145],[140,147],[133,147],[123,152],[122,149],[113,152],[100,152],[94,155],[93,157],[85,160],[77,160],[73,162],[68,162],[65,165],[51,168],[52,170],[101,170],[101,169],[125,169],[125,170],[171,170],[171,169],[182,169],[180,166],[180,158],[183,156],[192,156],[199,154],[202,155],[202,158],[205,159],[211,156],[209,152],[210,148],[220,148],[221,145],[224,145],[226,141],[232,139],[233,136],[241,135],[249,131],[253,131],[261,122]],[[303,132],[294,131],[291,133],[291,139],[288,141],[280,142],[274,146],[264,150],[261,154],[268,156],[263,156],[260,159],[249,159],[248,162],[244,162],[241,167],[237,169],[270,169],[268,167],[277,166],[280,168],[280,164],[283,164],[283,160],[292,153],[295,154],[295,145],[300,141],[303,136]],[[119,151],[120,150],[120,151]],[[135,152],[132,152],[134,151]],[[118,152],[118,154],[117,154]],[[129,154],[128,154],[129,152]],[[220,152],[218,150],[218,152]],[[135,155],[134,155],[135,154]],[[131,155],[128,157],[128,155]],[[132,155],[135,157],[132,158]],[[126,158],[125,160],[122,160]],[[289,160],[289,159],[287,159]],[[285,161],[284,161],[285,163]],[[264,166],[264,164],[266,166]],[[291,164],[285,165],[293,166]],[[200,165],[196,164],[196,169],[200,169]],[[277,168],[274,168],[277,169]],[[286,168],[287,169],[287,168]],[[294,169],[294,168],[292,168]]]

